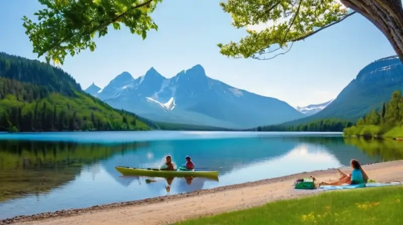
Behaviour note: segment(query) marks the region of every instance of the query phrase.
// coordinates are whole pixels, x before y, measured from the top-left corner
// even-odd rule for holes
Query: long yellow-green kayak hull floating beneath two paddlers
[[[159,170],[142,169],[133,167],[116,166],[115,169],[123,176],[149,176],[149,177],[206,177],[218,179],[218,171],[183,171],[183,170]]]

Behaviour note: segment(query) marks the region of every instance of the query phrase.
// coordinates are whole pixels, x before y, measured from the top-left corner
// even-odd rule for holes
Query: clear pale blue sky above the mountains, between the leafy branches
[[[238,41],[220,0],[165,0],[153,13],[159,26],[146,40],[128,29],[110,30],[96,40],[97,48],[67,57],[61,67],[83,88],[104,87],[123,71],[137,78],[154,67],[165,77],[202,65],[209,77],[237,88],[276,97],[292,106],[335,98],[372,61],[394,55],[384,35],[361,15],[325,29],[272,60],[223,56],[218,43]],[[41,6],[35,0],[8,0],[0,7],[0,51],[36,59],[21,18]]]

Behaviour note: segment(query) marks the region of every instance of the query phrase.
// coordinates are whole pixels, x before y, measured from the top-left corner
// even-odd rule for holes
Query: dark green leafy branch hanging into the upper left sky
[[[93,39],[105,36],[108,26],[119,30],[121,25],[132,34],[147,37],[158,26],[150,17],[162,0],[38,0],[45,6],[34,15],[38,22],[23,17],[23,26],[38,57],[46,54],[49,62],[63,64],[70,53],[96,48]]]

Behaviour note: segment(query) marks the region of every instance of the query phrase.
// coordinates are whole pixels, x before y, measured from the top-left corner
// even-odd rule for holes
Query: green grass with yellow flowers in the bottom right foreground
[[[403,187],[332,191],[281,200],[240,211],[187,220],[180,225],[218,224],[402,224]]]

